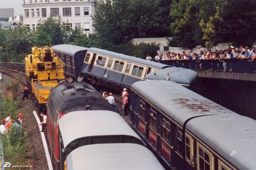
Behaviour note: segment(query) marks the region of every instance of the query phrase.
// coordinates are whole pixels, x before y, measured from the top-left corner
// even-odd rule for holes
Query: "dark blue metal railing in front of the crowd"
[[[156,61],[162,64],[183,67],[193,70],[223,71],[226,64],[226,71],[232,72],[256,72],[256,60],[252,59],[223,59],[223,60],[163,60]],[[201,65],[201,67],[200,67]]]

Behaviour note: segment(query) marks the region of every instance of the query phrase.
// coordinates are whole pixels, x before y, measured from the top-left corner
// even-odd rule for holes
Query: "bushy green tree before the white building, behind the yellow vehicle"
[[[68,31],[66,30],[65,23],[61,21],[61,18],[54,18],[52,15],[49,16],[46,20],[40,20],[37,24],[38,33],[44,35],[45,32],[52,39],[51,45],[63,44],[66,43],[68,38]],[[45,34],[45,35],[46,35]],[[47,36],[47,37],[48,37]],[[38,42],[44,42],[44,37],[38,37]]]

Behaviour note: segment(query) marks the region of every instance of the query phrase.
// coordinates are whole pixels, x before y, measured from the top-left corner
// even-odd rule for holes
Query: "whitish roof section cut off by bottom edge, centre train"
[[[164,169],[154,154],[134,143],[91,144],[67,156],[67,169]]]

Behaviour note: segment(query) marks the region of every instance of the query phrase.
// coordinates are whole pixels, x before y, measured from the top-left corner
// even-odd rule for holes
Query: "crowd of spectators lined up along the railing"
[[[225,62],[225,59],[252,59],[256,60],[255,55],[255,47],[254,45],[249,48],[248,46],[239,46],[234,47],[230,46],[226,50],[216,50],[216,51],[200,51],[200,53],[195,53],[192,50],[190,50],[188,53],[185,51],[181,53],[172,53],[167,52],[164,54],[158,54],[152,58],[151,56],[147,55],[146,60],[155,60],[155,61],[161,61],[161,60],[223,60],[223,71],[227,70],[227,63]],[[202,70],[202,63],[199,64],[200,70]],[[232,71],[232,68],[229,67],[229,71]]]

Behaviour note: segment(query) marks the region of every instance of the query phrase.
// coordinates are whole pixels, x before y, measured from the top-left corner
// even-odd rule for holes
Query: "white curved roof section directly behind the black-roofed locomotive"
[[[59,131],[64,148],[75,139],[91,136],[131,136],[143,143],[119,114],[106,110],[69,112],[59,119]]]

